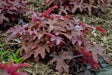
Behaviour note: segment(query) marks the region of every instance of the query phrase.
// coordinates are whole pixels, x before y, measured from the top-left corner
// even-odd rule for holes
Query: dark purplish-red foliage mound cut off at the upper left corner
[[[0,0],[0,25],[13,25],[26,12],[25,0]],[[4,23],[8,24],[4,24]],[[10,24],[11,23],[11,24]]]

